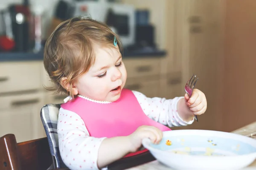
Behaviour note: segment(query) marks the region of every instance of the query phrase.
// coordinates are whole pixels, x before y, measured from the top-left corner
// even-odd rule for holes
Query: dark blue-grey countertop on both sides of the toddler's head
[[[31,60],[43,60],[44,53],[40,51],[38,53],[33,52],[0,52],[0,62],[11,61],[31,61]],[[134,51],[124,51],[123,58],[142,58],[142,57],[165,57],[166,51],[144,49]]]

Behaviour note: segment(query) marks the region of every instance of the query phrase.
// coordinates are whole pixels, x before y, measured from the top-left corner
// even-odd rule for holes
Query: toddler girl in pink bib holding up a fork
[[[57,92],[68,92],[58,116],[61,158],[72,170],[99,169],[158,143],[167,126],[192,124],[206,111],[204,93],[191,98],[148,98],[125,89],[119,37],[103,23],[80,17],[61,23],[48,38],[44,67]],[[136,153],[144,152],[141,150]]]

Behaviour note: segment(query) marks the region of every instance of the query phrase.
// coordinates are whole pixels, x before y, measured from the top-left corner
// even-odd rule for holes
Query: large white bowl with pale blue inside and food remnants
[[[221,131],[170,130],[160,144],[149,139],[142,144],[174,170],[239,170],[256,159],[255,139]]]

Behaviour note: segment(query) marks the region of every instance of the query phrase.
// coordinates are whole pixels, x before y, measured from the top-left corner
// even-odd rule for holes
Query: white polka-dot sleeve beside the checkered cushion
[[[98,151],[105,138],[90,137],[78,114],[61,108],[57,132],[61,158],[67,167],[72,170],[99,169]]]

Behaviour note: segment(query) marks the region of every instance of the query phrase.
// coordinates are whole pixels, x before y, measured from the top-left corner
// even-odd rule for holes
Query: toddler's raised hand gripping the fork
[[[207,101],[204,93],[196,88],[193,90],[190,98],[188,94],[185,94],[185,101],[194,115],[204,114],[207,109]]]

